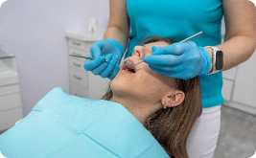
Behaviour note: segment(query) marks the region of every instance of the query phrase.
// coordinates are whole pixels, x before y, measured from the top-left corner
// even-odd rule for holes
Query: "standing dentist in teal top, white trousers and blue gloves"
[[[202,114],[190,134],[190,158],[211,158],[217,146],[221,123],[222,74],[248,59],[256,47],[256,7],[249,0],[110,0],[109,23],[104,40],[91,47],[84,69],[102,78],[114,79],[123,56],[130,56],[146,36],[160,35],[180,41],[200,31],[185,43],[152,47],[143,60],[150,68],[176,79],[200,77]],[[226,33],[221,43],[221,19]],[[127,50],[127,51],[126,51]],[[126,54],[125,54],[126,51]],[[104,62],[104,60],[116,60]]]

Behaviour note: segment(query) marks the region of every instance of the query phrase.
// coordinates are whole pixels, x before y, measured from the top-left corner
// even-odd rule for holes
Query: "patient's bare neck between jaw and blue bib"
[[[159,110],[161,106],[161,102],[151,102],[145,100],[136,100],[136,99],[128,99],[117,97],[113,95],[112,102],[118,102],[125,106],[128,111],[141,123],[144,124],[147,119],[151,116],[151,114],[155,113]]]

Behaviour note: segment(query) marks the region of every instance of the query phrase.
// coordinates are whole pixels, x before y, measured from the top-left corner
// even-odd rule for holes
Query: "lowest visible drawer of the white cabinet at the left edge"
[[[0,131],[11,128],[23,118],[22,108],[15,108],[7,111],[0,111]]]

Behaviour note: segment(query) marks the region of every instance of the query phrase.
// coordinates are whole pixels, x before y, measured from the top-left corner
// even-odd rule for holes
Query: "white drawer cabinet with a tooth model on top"
[[[88,56],[91,46],[104,38],[103,33],[88,34],[85,31],[67,31],[68,55]],[[85,59],[68,56],[69,59],[69,81],[70,94],[82,98],[99,100],[105,94],[110,82],[109,79],[102,79],[92,72],[86,72],[83,68]]]

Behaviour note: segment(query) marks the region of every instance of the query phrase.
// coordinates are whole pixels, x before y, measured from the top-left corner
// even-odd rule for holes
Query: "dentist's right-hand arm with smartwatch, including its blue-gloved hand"
[[[216,46],[223,52],[223,68],[228,70],[248,59],[256,48],[256,7],[249,0],[223,0],[225,41]],[[211,48],[198,47],[189,41],[169,46],[152,47],[152,56],[143,60],[162,75],[176,79],[192,79],[213,71]],[[193,55],[193,56],[192,56]]]

